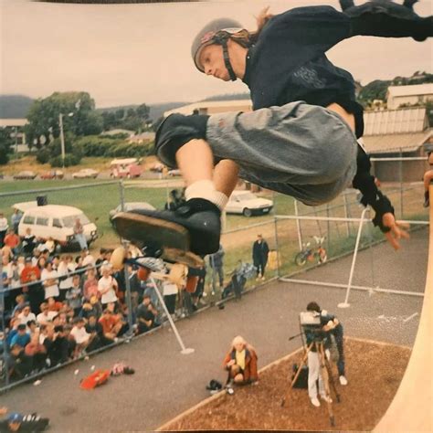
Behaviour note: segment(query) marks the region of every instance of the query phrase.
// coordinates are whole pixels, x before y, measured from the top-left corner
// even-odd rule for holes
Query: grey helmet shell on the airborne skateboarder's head
[[[198,32],[191,46],[191,55],[194,59],[195,67],[199,71],[205,72],[205,69],[199,62],[200,54],[203,48],[216,43],[216,34],[218,32],[223,31],[233,35],[243,28],[238,21],[232,18],[217,18],[204,26]]]

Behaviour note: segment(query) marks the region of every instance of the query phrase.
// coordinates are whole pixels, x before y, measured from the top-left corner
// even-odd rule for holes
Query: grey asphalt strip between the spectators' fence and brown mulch
[[[427,243],[427,230],[421,230],[398,253],[386,245],[375,247],[381,286],[422,291]],[[361,252],[359,259],[358,283],[366,278],[363,275],[370,266],[370,252]],[[340,276],[345,280],[349,266],[350,259],[342,259],[306,276],[313,280]],[[49,417],[51,431],[153,430],[206,398],[205,386],[211,378],[225,380],[221,361],[236,334],[256,346],[259,367],[297,349],[301,341],[289,342],[288,337],[299,333],[298,313],[312,300],[339,316],[346,335],[413,344],[422,298],[354,291],[351,308],[339,310],[337,303],[343,297],[344,290],[340,289],[270,283],[241,301],[228,302],[224,310],[209,309],[177,322],[185,344],[195,348],[194,354],[180,354],[174,333],[164,328],[48,375],[37,387],[19,386],[0,396],[2,406]],[[418,315],[407,320],[414,313]],[[94,391],[79,389],[79,378],[90,374],[91,365],[110,368],[120,360],[131,364],[136,374],[111,378]],[[74,375],[76,369],[79,375]],[[368,365],[365,369],[368,374]],[[350,365],[347,375],[350,380]]]

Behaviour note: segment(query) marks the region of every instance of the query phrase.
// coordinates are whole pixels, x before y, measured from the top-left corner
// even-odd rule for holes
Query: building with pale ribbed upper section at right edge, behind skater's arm
[[[427,156],[433,145],[425,107],[364,113],[363,142],[373,158]],[[373,172],[382,182],[419,182],[427,161],[375,161]]]

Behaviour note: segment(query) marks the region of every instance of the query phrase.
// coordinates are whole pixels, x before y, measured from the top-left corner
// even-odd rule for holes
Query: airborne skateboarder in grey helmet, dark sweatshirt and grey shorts
[[[331,6],[299,7],[278,16],[265,10],[256,32],[230,18],[205,26],[193,42],[196,68],[225,81],[242,79],[254,111],[167,117],[156,133],[156,153],[164,164],[180,168],[185,206],[120,214],[115,224],[121,236],[139,234],[144,244],[149,237],[164,248],[215,253],[220,213],[240,176],[310,206],[353,185],[364,206],[374,208],[375,225],[399,248],[407,233],[356,142],[364,121],[354,79],[325,52],[357,35],[423,40],[431,36],[431,17],[417,16],[413,2],[343,3],[344,13]]]

